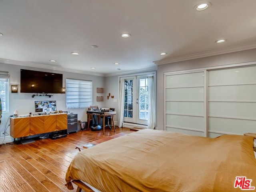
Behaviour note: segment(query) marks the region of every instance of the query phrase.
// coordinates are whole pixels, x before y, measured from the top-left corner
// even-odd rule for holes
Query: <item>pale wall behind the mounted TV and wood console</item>
[[[96,96],[102,96],[101,94],[96,93],[96,89],[105,87],[105,80],[104,80],[105,77],[0,63],[0,70],[8,71],[10,74],[9,113],[2,114],[2,123],[0,124],[0,132],[4,131],[6,122],[7,122],[7,126],[10,124],[9,116],[13,114],[14,110],[18,110],[19,115],[28,114],[29,112],[32,112],[32,114],[34,114],[35,113],[34,101],[36,101],[36,100],[49,100],[49,99],[56,100],[57,110],[73,111],[74,113],[78,114],[78,120],[87,121],[87,115],[86,115],[87,108],[66,109],[66,94],[52,94],[53,96],[51,98],[49,98],[48,96],[35,96],[34,98],[32,98],[32,93],[20,93],[20,69],[38,70],[38,71],[54,72],[54,73],[63,74],[63,87],[66,87],[66,78],[73,78],[73,79],[80,79],[80,80],[92,80],[92,88],[93,88],[93,93],[92,93],[93,101],[92,102],[93,102],[93,105],[98,105],[99,107],[106,106],[105,102],[96,102]],[[10,86],[12,84],[18,84],[18,86],[19,86],[18,93],[11,93]],[[109,92],[108,90],[106,90],[106,91]],[[111,91],[114,92],[114,88],[113,88],[113,90],[110,90],[110,92]],[[10,134],[10,127],[8,127],[6,132],[8,134]]]

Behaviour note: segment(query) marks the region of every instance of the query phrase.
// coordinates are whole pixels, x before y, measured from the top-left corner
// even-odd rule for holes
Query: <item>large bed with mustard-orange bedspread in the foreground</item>
[[[253,147],[252,136],[205,138],[140,130],[76,154],[66,172],[66,187],[73,189],[72,181],[79,180],[101,192],[253,189],[256,187]]]

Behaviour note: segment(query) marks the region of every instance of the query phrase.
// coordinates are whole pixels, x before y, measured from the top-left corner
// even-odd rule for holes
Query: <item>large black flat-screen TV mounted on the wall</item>
[[[20,70],[21,93],[62,93],[62,74]]]

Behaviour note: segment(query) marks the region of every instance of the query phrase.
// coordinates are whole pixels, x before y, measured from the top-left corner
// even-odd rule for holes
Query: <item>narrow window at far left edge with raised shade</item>
[[[9,113],[9,72],[0,71],[0,98],[2,112]]]

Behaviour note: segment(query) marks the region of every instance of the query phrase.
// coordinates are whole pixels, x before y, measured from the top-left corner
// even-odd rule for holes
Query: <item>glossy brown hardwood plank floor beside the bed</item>
[[[78,131],[67,137],[52,140],[39,139],[30,144],[2,144],[0,147],[0,192],[75,192],[64,184],[66,170],[78,153],[76,145],[82,145],[104,137],[124,132]]]

